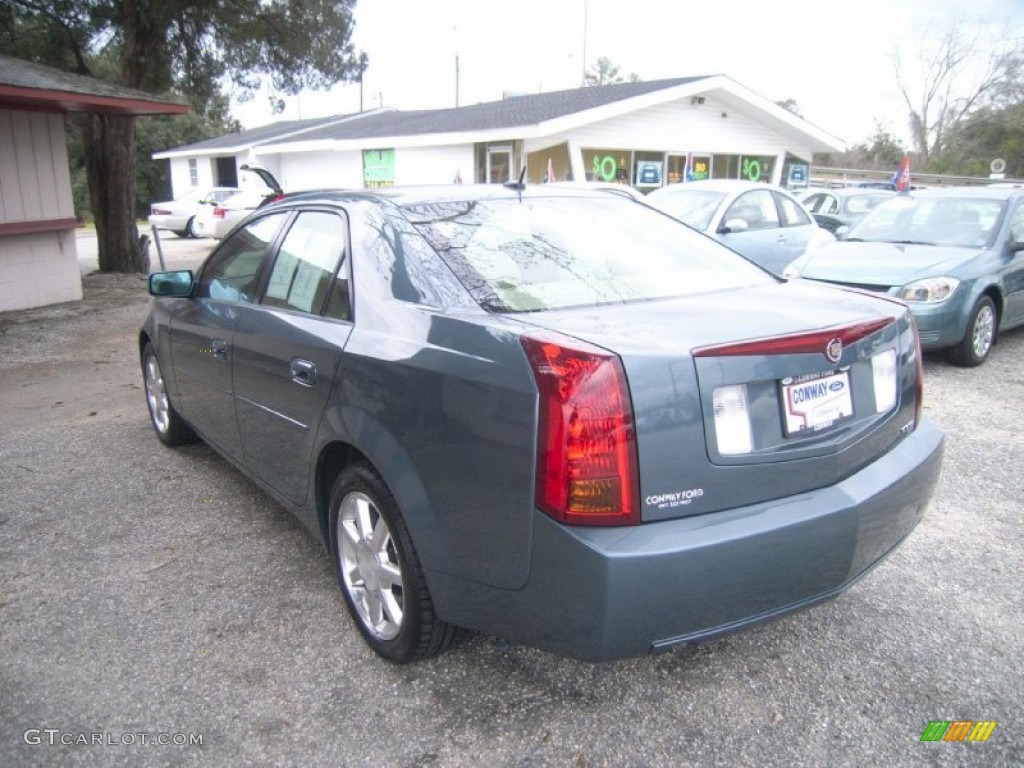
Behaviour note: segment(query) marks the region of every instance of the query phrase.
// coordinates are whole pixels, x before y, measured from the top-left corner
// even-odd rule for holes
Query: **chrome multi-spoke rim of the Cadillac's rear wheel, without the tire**
[[[364,627],[392,640],[401,631],[406,598],[398,550],[374,500],[352,492],[338,512],[338,552],[345,591]]]

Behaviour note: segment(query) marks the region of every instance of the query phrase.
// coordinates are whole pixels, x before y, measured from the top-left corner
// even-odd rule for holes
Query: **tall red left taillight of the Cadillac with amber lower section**
[[[523,337],[540,391],[537,506],[583,525],[640,522],[633,404],[618,357],[574,339]]]

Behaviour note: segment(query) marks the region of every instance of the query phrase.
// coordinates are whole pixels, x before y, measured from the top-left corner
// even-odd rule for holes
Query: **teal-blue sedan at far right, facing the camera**
[[[899,195],[786,275],[895,296],[913,311],[925,349],[979,366],[1000,332],[1024,324],[1024,190]]]

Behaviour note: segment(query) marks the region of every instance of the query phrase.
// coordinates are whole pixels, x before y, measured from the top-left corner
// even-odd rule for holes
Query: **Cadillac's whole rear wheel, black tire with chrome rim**
[[[330,523],[342,596],[370,647],[395,664],[445,651],[456,628],[434,612],[406,521],[372,467],[353,464],[338,477]]]

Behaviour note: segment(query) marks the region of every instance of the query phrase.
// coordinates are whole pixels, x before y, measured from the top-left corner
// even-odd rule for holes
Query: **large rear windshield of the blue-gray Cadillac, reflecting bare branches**
[[[710,238],[611,195],[442,202],[403,211],[476,302],[494,311],[643,301],[773,282]]]

